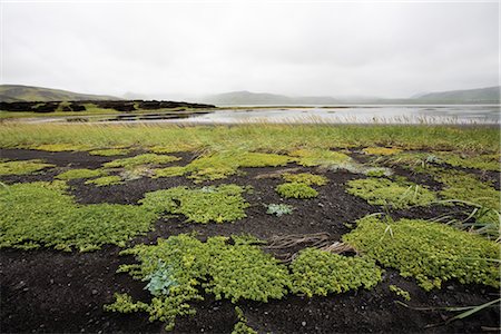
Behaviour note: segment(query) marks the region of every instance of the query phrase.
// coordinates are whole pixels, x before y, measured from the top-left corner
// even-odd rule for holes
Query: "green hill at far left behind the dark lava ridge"
[[[79,94],[68,90],[21,86],[0,85],[0,102],[18,101],[79,101],[79,100],[119,100],[119,98],[104,95]]]

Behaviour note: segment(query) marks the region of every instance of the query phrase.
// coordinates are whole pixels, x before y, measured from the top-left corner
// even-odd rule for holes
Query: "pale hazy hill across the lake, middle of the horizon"
[[[207,96],[199,99],[205,104],[242,106],[242,105],[333,105],[338,101],[332,97],[288,97],[284,95],[250,91],[230,91]]]

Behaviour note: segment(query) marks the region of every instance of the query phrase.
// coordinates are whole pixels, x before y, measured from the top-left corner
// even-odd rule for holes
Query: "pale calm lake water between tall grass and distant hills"
[[[235,122],[384,122],[499,124],[500,106],[344,106],[337,108],[276,108],[222,110],[183,120],[202,124]]]

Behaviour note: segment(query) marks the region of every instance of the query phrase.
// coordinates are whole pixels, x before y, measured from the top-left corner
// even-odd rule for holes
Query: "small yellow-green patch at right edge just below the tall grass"
[[[501,156],[495,155],[464,155],[459,153],[436,153],[436,156],[445,164],[463,167],[474,168],[481,170],[501,170]]]

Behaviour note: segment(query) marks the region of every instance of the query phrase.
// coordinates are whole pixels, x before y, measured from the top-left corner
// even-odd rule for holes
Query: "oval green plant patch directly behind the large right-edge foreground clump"
[[[426,206],[436,200],[435,195],[424,186],[395,183],[386,178],[354,179],[347,183],[348,194],[362,197],[372,205],[387,205],[393,208]]]

